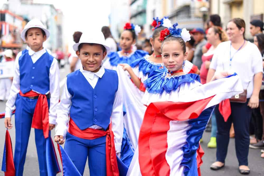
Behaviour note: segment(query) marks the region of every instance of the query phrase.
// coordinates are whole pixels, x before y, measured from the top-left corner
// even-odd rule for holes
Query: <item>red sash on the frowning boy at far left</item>
[[[49,106],[46,95],[38,94],[32,90],[25,94],[23,94],[20,91],[19,95],[23,97],[39,96],[34,110],[31,127],[36,129],[43,129],[44,138],[45,139],[48,138],[49,137]]]

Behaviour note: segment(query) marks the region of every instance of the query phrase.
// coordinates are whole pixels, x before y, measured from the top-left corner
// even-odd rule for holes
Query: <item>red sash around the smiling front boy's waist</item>
[[[81,130],[70,118],[68,132],[76,137],[89,140],[106,136],[106,175],[119,175],[116,160],[114,133],[112,131],[111,124],[109,125],[109,129],[107,129],[107,131],[92,128],[86,128],[84,130]]]

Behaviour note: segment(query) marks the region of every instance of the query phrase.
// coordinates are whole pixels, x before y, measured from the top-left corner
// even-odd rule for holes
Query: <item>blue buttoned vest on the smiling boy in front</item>
[[[72,95],[70,118],[81,129],[98,125],[107,129],[118,89],[118,77],[114,70],[105,69],[95,88],[89,84],[80,70],[67,76],[68,92]]]

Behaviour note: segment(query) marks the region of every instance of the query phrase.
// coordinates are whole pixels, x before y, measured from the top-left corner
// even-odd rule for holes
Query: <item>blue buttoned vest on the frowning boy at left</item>
[[[31,90],[41,94],[49,91],[49,71],[53,56],[44,53],[37,62],[33,63],[28,52],[19,57],[20,90],[23,94]]]

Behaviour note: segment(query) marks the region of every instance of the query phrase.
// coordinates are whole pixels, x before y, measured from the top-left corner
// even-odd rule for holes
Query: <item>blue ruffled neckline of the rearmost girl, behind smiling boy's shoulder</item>
[[[143,50],[136,50],[134,53],[131,53],[128,56],[123,56],[120,54],[120,52],[111,52],[108,54],[108,57],[111,66],[117,66],[120,63],[127,63],[130,65],[136,59],[142,58],[147,54],[148,53]]]

